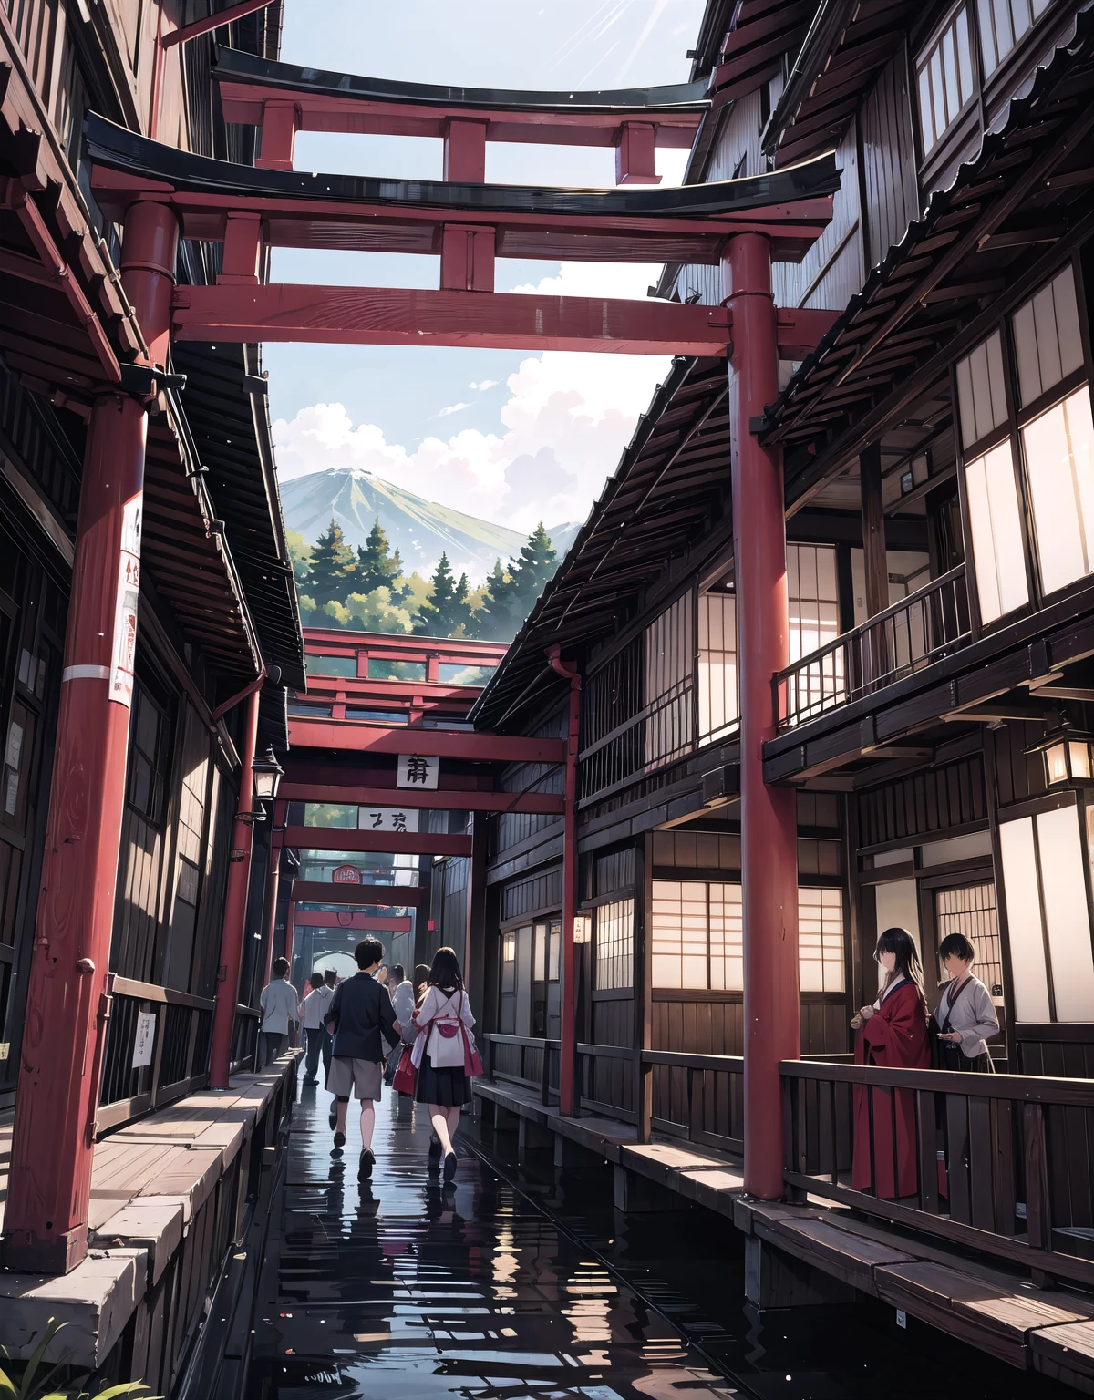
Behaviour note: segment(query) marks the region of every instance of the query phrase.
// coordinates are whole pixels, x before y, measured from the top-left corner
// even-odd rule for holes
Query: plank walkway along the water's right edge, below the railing
[[[563,1119],[517,1085],[478,1081],[475,1096],[487,1121],[494,1116],[501,1126],[514,1114],[521,1142],[534,1145],[536,1134],[551,1133],[558,1162],[566,1144],[611,1162],[621,1205],[635,1208],[640,1193],[632,1190],[632,1201],[625,1200],[635,1180],[653,1183],[727,1217],[756,1242],[758,1253],[775,1250],[776,1260],[811,1266],[1013,1366],[1094,1394],[1094,1301],[1084,1295],[1035,1287],[1028,1275],[981,1264],[912,1231],[863,1221],[819,1198],[800,1205],[751,1200],[737,1158],[670,1138],[643,1145],[629,1124]],[[807,1287],[800,1298],[810,1301]],[[793,1303],[793,1285],[783,1301]]]

